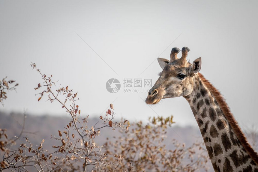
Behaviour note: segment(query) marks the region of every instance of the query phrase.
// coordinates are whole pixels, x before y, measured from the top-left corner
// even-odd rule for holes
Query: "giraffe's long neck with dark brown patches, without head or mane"
[[[201,74],[193,76],[193,92],[185,98],[201,131],[214,171],[258,171],[257,159],[255,159],[257,154],[246,140],[246,143],[240,141],[243,138],[239,140],[238,133],[232,128],[235,127],[232,126],[232,121],[235,122],[234,118],[230,116],[228,119],[229,117],[225,115],[223,106],[227,107],[226,103],[224,100],[222,102],[225,104],[218,103],[216,95],[209,89],[210,85],[206,84],[208,81],[202,77]],[[238,127],[237,123],[235,125]],[[237,132],[242,134],[241,129],[237,129],[239,129]],[[252,158],[250,151],[255,154]]]

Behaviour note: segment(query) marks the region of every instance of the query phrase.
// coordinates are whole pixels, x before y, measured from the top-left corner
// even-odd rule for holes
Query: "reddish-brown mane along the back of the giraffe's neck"
[[[211,92],[211,94],[214,96],[215,100],[218,102],[221,110],[223,111],[223,114],[225,115],[226,119],[229,122],[229,125],[235,132],[235,135],[237,136],[238,140],[241,142],[242,146],[248,153],[248,155],[253,159],[253,161],[258,165],[258,155],[253,150],[251,145],[248,143],[246,137],[244,136],[243,131],[239,127],[237,121],[235,120],[235,117],[231,113],[229,106],[227,105],[225,98],[221,95],[219,90],[215,88],[207,79],[204,78],[204,76],[201,73],[198,73],[201,81],[203,84],[208,88],[208,90]]]

